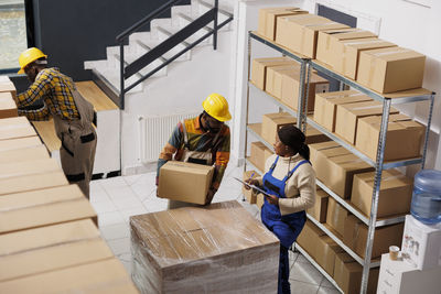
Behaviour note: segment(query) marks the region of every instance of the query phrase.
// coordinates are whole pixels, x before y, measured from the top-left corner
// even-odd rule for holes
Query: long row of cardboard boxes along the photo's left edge
[[[0,95],[15,96],[6,77]],[[68,184],[28,119],[17,117],[14,102],[11,109],[0,119],[0,293],[138,293],[100,238],[89,202]]]

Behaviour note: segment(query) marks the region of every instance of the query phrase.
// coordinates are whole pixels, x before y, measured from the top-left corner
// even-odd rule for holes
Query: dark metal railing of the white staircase
[[[181,55],[186,53],[187,51],[192,50],[194,46],[203,42],[205,39],[213,35],[213,48],[217,48],[217,31],[220,30],[224,25],[226,25],[228,22],[233,20],[233,15],[228,14],[228,18],[220,24],[217,23],[217,13],[219,11],[218,9],[218,0],[214,0],[214,7],[205,12],[203,15],[198,17],[195,19],[193,22],[178,31],[175,34],[171,35],[166,40],[164,40],[162,43],[158,44],[155,47],[151,48],[149,52],[140,56],[138,59],[132,62],[131,64],[128,64],[125,61],[125,54],[123,54],[123,43],[125,41],[135,32],[137,32],[141,26],[147,24],[148,22],[152,21],[154,18],[170,9],[172,6],[180,3],[183,0],[171,0],[160,8],[158,8],[155,11],[151,12],[149,15],[143,18],[142,20],[138,21],[135,23],[132,26],[120,33],[117,37],[116,41],[119,43],[119,62],[120,62],[120,94],[119,94],[119,102],[117,101],[118,106],[120,109],[125,108],[125,96],[126,92],[144,81],[147,78],[151,77],[154,75],[157,72],[159,72],[161,68],[165,67],[169,65],[171,62],[175,61],[179,58]],[[213,30],[208,31],[205,33],[203,36],[194,41],[193,43],[187,43],[185,44],[185,48],[180,51],[179,53],[174,54],[171,58],[163,58],[163,55],[175,47],[179,44],[182,44],[189,36],[194,34],[195,32],[200,31],[201,29],[206,30],[206,25],[208,23],[213,22]],[[154,62],[155,59],[161,58],[162,63],[161,65],[157,66],[152,70],[150,70],[146,75],[141,75],[139,70],[142,68],[147,67],[149,64]],[[137,75],[140,77],[137,81],[131,84],[129,87],[126,88],[126,79],[129,77]]]

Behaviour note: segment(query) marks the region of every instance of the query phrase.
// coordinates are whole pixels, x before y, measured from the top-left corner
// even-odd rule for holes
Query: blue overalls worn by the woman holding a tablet
[[[271,195],[276,195],[279,198],[286,198],[284,186],[287,185],[288,178],[295,172],[295,170],[309,161],[303,160],[299,162],[294,168],[292,168],[282,179],[277,179],[272,176],[272,172],[279,160],[277,156],[275,163],[271,165],[270,170],[263,175],[263,189]],[[295,241],[299,233],[302,231],[304,222],[306,221],[305,211],[299,211],[290,215],[280,215],[279,207],[277,205],[271,205],[265,198],[263,206],[261,208],[261,220],[263,225],[272,231],[277,238],[280,240],[280,260],[279,260],[279,283],[278,293],[279,294],[290,294],[289,284],[289,258],[288,249]]]

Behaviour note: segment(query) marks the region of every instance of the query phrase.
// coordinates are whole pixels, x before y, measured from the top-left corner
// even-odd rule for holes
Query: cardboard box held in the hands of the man
[[[214,166],[169,161],[159,172],[158,197],[205,204]]]

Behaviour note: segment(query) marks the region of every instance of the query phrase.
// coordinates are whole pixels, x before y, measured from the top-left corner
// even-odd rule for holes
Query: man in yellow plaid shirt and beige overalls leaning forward
[[[76,90],[75,84],[58,68],[47,68],[47,56],[39,48],[28,48],[19,57],[19,74],[25,73],[32,85],[17,96],[19,113],[30,120],[54,119],[62,146],[63,172],[71,184],[77,184],[89,197],[97,137],[92,124],[94,107]],[[20,109],[42,99],[36,110]]]

